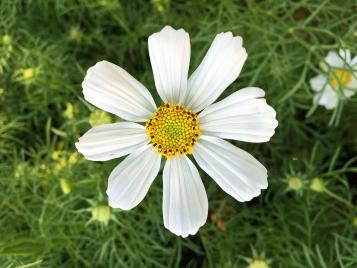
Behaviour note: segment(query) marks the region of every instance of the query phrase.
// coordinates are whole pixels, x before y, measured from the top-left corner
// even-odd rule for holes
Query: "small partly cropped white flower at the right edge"
[[[326,109],[336,108],[340,99],[349,98],[357,90],[357,56],[351,58],[350,50],[330,51],[323,63],[323,74],[310,79],[310,86],[316,92],[314,103]]]

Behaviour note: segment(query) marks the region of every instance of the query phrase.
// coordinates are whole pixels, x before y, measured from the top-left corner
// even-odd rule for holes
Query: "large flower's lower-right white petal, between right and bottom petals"
[[[267,170],[252,155],[229,142],[201,136],[193,156],[198,165],[228,194],[249,201],[268,187]]]

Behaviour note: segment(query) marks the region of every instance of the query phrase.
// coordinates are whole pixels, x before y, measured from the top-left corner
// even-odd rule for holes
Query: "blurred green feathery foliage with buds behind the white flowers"
[[[190,73],[217,33],[243,37],[248,59],[221,96],[266,90],[279,127],[235,144],[269,171],[239,203],[200,171],[209,216],[199,233],[163,226],[161,172],[129,212],[107,206],[111,170],[74,147],[120,121],[83,99],[97,61],[122,66],[160,103],[147,38],[165,25],[191,38]],[[357,267],[356,97],[328,111],[309,80],[328,51],[357,53],[357,5],[345,1],[0,1],[0,267]]]

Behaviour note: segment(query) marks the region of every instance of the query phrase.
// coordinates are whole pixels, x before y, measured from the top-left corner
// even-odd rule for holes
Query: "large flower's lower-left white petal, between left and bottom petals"
[[[130,210],[147,194],[160,170],[161,154],[151,144],[139,148],[112,171],[108,181],[109,206]]]

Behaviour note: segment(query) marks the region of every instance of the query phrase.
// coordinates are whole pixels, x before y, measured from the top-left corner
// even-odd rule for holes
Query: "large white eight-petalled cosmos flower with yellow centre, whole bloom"
[[[223,139],[266,142],[278,122],[260,88],[244,88],[212,104],[238,77],[247,58],[241,37],[218,34],[189,79],[190,39],[183,29],[166,26],[151,35],[149,54],[164,104],[157,108],[149,91],[121,67],[98,62],[84,78],[84,97],[128,122],[94,127],[76,146],[93,161],[129,154],[110,174],[107,189],[109,205],[122,210],[144,199],[164,156],[164,225],[186,237],[198,231],[208,213],[204,185],[187,154],[225,192],[249,201],[267,188],[267,170]]]

